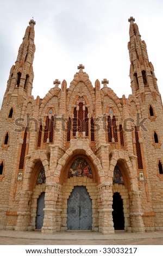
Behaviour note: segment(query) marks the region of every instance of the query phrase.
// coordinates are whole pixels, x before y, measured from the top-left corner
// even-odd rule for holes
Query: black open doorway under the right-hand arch
[[[124,229],[124,214],[123,214],[123,200],[120,196],[120,193],[116,192],[113,194],[112,202],[112,218],[114,222],[115,230]]]

